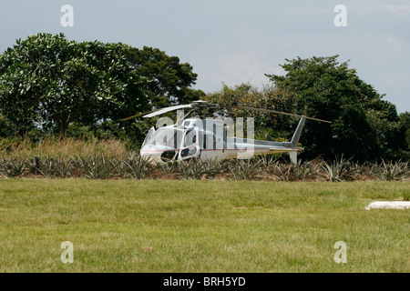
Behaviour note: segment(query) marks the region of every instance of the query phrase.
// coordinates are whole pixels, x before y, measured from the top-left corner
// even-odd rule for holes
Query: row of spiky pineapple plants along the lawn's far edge
[[[352,158],[333,161],[316,158],[293,165],[282,157],[259,156],[251,159],[231,159],[216,163],[191,159],[156,165],[131,153],[122,156],[94,155],[38,155],[3,157],[0,176],[89,179],[109,178],[171,178],[171,179],[236,179],[277,181],[354,181],[406,180],[410,177],[408,161],[359,164]]]

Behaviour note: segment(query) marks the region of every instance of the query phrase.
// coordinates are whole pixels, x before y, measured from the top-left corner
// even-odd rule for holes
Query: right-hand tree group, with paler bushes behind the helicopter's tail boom
[[[330,120],[308,120],[302,132],[302,157],[354,156],[365,161],[378,158],[408,159],[408,113],[397,115],[373,85],[361,80],[338,55],[288,60],[285,75],[267,75],[272,81],[262,88],[250,84],[222,85],[206,96],[220,105],[237,105],[306,114]],[[255,136],[269,134],[276,140],[292,138],[298,118],[260,111],[223,110],[220,115],[254,117]]]

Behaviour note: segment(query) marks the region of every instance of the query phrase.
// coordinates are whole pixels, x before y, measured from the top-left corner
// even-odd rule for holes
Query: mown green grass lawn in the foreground
[[[0,180],[0,272],[409,272],[409,182]],[[61,243],[74,245],[63,264]],[[337,241],[347,263],[336,264]]]

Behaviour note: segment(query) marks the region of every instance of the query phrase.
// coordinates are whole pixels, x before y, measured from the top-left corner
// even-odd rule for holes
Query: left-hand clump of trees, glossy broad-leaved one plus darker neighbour
[[[70,125],[70,133],[125,130],[139,141],[146,123],[118,120],[200,99],[205,94],[190,88],[196,79],[190,64],[158,48],[28,35],[0,55],[0,115],[19,135],[57,127],[64,136]]]

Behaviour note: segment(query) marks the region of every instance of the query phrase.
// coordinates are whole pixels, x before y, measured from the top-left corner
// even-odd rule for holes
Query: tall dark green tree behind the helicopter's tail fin
[[[293,111],[330,120],[332,125],[306,122],[303,156],[355,156],[358,160],[396,158],[398,116],[339,55],[288,60],[285,75],[267,75],[279,89],[297,94]]]

